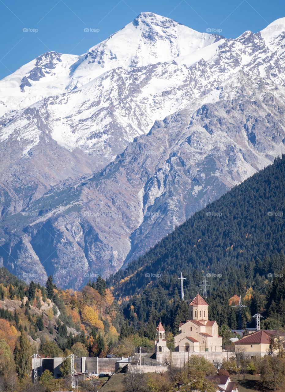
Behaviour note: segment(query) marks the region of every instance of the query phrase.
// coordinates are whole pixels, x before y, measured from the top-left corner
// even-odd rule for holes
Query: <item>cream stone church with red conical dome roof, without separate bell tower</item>
[[[208,306],[200,294],[189,304],[190,319],[179,325],[179,334],[174,337],[175,351],[222,351],[218,324],[208,319]]]

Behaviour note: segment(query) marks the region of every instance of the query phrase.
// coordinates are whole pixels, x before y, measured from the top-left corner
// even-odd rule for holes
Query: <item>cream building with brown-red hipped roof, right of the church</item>
[[[236,351],[243,351],[251,354],[251,356],[256,356],[256,353],[260,356],[269,353],[278,354],[281,346],[285,348],[285,333],[274,330],[261,330],[245,336],[234,344]]]

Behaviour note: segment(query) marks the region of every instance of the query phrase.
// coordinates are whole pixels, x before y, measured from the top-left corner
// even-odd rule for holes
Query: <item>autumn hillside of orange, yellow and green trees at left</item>
[[[25,390],[34,353],[105,357],[121,324],[118,303],[100,276],[76,292],[59,289],[51,276],[45,287],[27,285],[0,268],[0,386]]]

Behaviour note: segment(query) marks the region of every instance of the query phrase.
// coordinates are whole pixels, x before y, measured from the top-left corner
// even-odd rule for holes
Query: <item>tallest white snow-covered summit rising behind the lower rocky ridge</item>
[[[140,13],[133,22],[91,47],[84,61],[74,69],[81,87],[110,69],[125,70],[175,61],[211,45],[222,37],[199,33],[175,20],[150,12]],[[187,62],[187,61],[186,61]]]

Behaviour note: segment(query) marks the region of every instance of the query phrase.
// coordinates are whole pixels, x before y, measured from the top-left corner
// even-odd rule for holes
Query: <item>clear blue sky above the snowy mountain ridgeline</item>
[[[47,51],[82,54],[140,12],[236,38],[285,16],[284,0],[0,0],[0,78]],[[29,29],[25,32],[23,29]],[[84,29],[91,29],[84,32]],[[99,30],[99,31],[98,31]]]

